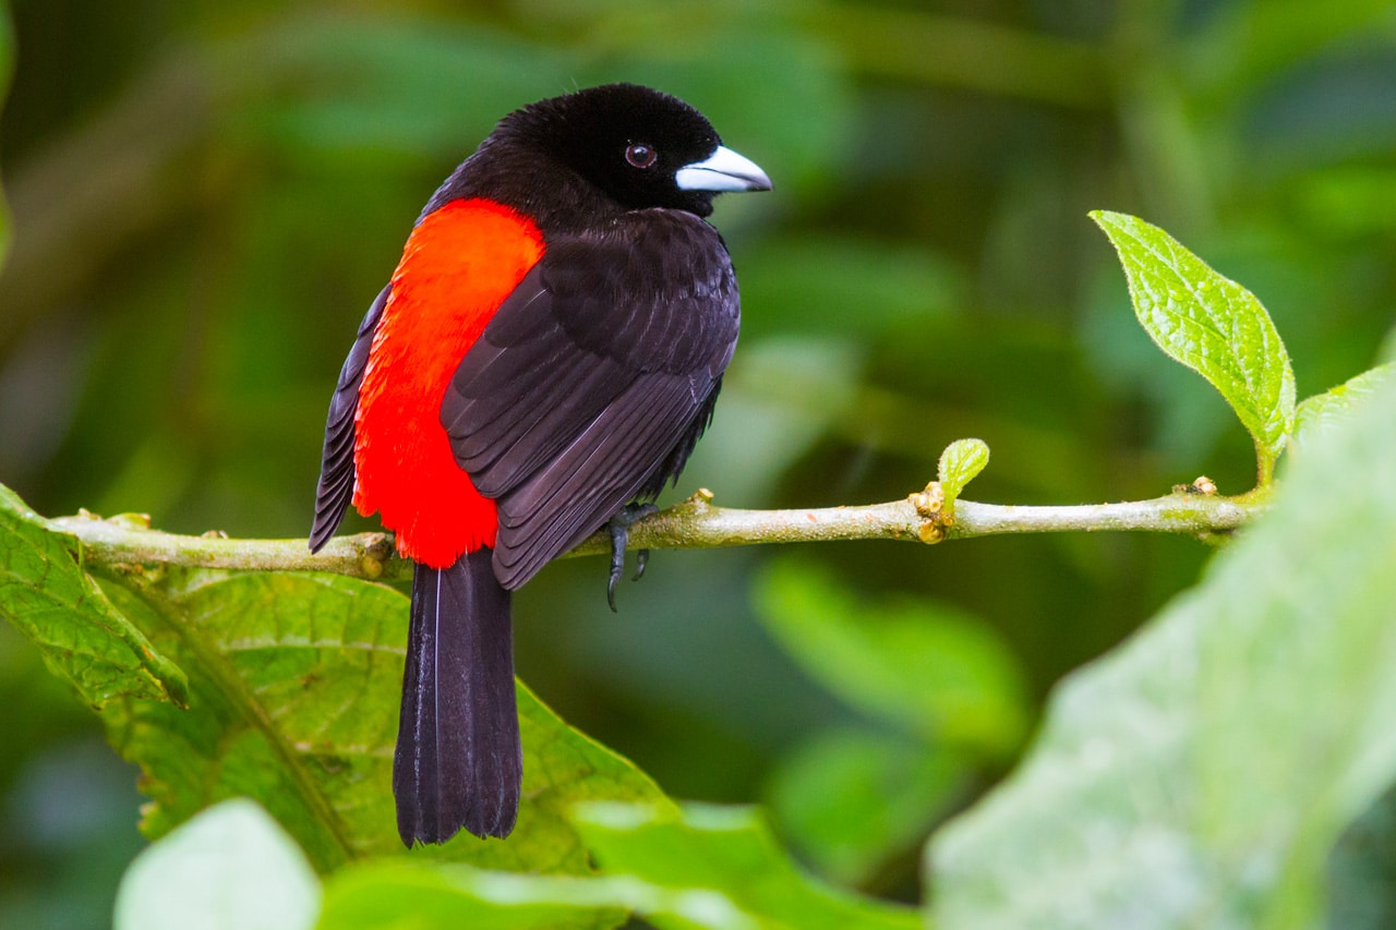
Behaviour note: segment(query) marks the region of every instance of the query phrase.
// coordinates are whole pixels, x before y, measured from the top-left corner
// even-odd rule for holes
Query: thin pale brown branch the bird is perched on
[[[1265,510],[1251,496],[1177,490],[1152,500],[1071,507],[1019,507],[956,501],[953,511],[930,504],[926,493],[907,500],[864,507],[817,510],[736,510],[715,507],[712,493],[638,521],[630,531],[632,549],[713,549],[757,543],[902,539],[935,543],[1000,533],[1145,531],[1208,538],[1228,533]],[[87,511],[49,521],[82,543],[85,559],[113,567],[186,566],[246,571],[328,571],[357,578],[406,578],[409,563],[398,557],[388,533],[335,538],[318,553],[303,539],[226,539],[221,533],[179,536],[149,528],[149,518],[123,514],[102,519]],[[610,552],[610,539],[596,533],[568,556]]]

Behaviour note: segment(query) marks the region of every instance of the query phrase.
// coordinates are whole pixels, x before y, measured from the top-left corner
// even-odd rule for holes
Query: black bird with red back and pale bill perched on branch
[[[329,401],[310,547],[353,504],[413,563],[392,764],[408,848],[512,832],[512,592],[609,528],[614,609],[628,526],[683,471],[737,344],[713,198],[761,190],[676,96],[543,99],[437,189],[369,307]]]

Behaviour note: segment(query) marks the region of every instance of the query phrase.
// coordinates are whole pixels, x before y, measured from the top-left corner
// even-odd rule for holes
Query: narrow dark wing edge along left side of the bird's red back
[[[310,552],[320,552],[329,542],[353,499],[353,420],[359,409],[359,384],[363,381],[364,366],[369,364],[373,331],[383,317],[389,290],[391,288],[384,288],[378,292],[378,297],[359,324],[359,335],[355,337],[349,357],[339,370],[339,384],[329,398],[325,451],[320,459],[320,486],[315,489],[315,522],[310,529]]]

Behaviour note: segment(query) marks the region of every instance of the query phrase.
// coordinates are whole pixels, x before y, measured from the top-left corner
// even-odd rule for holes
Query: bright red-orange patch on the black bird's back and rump
[[[543,256],[543,233],[489,200],[455,200],[417,223],[392,274],[355,416],[353,503],[433,568],[494,545],[494,501],[455,464],[441,399],[461,359]]]

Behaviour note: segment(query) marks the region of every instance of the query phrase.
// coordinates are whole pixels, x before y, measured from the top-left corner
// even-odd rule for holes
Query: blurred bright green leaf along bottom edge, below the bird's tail
[[[909,908],[828,888],[801,873],[750,809],[591,803],[577,824],[602,876],[519,876],[376,862],[336,873],[320,930],[656,927],[743,930],[917,927]]]

